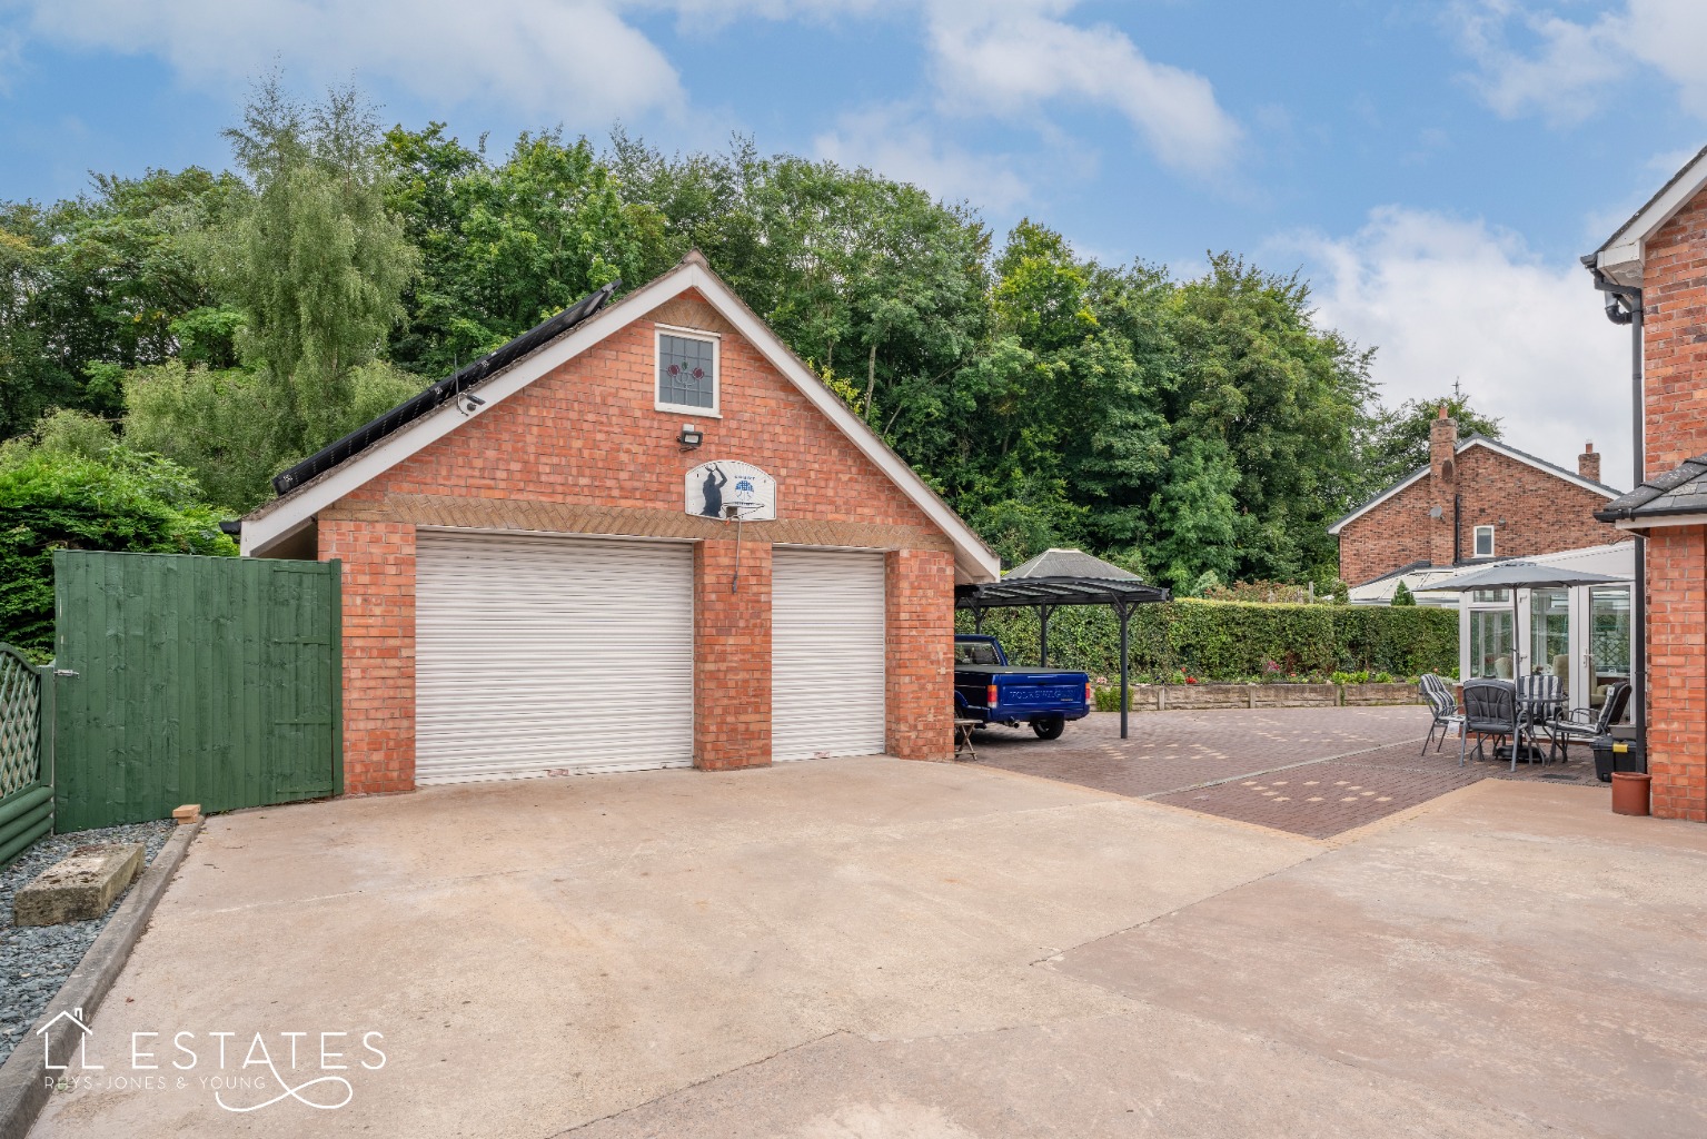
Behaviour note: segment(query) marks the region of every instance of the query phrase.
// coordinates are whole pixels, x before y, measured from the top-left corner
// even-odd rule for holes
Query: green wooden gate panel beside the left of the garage
[[[60,550],[55,830],[343,791],[338,562]]]

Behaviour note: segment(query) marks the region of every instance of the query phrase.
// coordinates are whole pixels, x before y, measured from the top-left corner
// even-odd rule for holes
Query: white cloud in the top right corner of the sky
[[[1652,70],[1678,87],[1678,101],[1707,118],[1707,3],[1623,0],[1620,10],[1570,20],[1523,0],[1475,0],[1451,10],[1459,43],[1480,67],[1473,79],[1507,118],[1540,113],[1586,118],[1615,80]],[[1529,43],[1512,46],[1512,32]]]

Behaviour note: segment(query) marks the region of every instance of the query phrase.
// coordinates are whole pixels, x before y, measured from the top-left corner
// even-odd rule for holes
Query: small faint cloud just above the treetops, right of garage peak
[[[818,157],[865,166],[913,183],[949,202],[968,200],[992,213],[1019,207],[1029,188],[1004,155],[971,154],[946,143],[906,108],[869,108],[843,114],[813,140]]]

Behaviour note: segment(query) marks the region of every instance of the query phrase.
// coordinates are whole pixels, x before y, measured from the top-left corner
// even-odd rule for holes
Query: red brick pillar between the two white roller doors
[[[734,541],[693,550],[693,763],[722,772],[770,763],[770,543]],[[951,582],[953,589],[953,582]]]

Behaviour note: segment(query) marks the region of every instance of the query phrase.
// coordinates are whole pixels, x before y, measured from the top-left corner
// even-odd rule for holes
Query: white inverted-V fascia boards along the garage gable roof
[[[835,393],[824,388],[823,381],[794,355],[789,345],[712,272],[698,251],[690,253],[676,268],[657,280],[606,306],[567,335],[539,347],[531,355],[512,362],[509,367],[469,388],[468,391],[478,393],[485,400],[485,406],[476,415],[466,415],[454,401],[444,403],[394,434],[376,441],[367,449],[352,454],[338,466],[290,490],[290,494],[273,499],[244,516],[244,557],[266,553],[271,546],[299,533],[319,511],[333,502],[367,485],[423,447],[444,439],[468,418],[485,415],[509,396],[527,388],[533,381],[562,367],[657,306],[690,290],[698,290],[717,309],[719,316],[746,336],[748,343],[758,348],[814,408],[830,418],[954,543],[954,564],[959,577],[971,582],[1000,579],[1000,560],[983,540],[900,454],[877,437],[862,418],[854,415]]]

